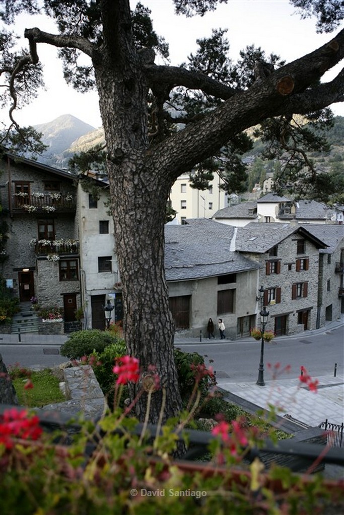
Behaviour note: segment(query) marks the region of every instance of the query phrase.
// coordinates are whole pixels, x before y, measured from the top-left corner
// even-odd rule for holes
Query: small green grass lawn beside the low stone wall
[[[27,381],[31,381],[33,388],[25,389]],[[29,377],[13,379],[13,386],[17,392],[19,404],[29,408],[40,408],[46,404],[65,401],[65,396],[59,388],[60,380],[52,370],[45,369],[31,372]]]

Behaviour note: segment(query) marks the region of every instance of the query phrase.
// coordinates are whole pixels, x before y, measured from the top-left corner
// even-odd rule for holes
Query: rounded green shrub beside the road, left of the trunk
[[[76,331],[62,345],[60,354],[71,359],[78,359],[89,356],[93,351],[101,353],[109,345],[120,341],[122,340],[113,336],[109,331],[100,331],[99,329]]]

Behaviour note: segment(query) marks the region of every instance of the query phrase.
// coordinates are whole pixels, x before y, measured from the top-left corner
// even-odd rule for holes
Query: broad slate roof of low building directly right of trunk
[[[187,220],[187,225],[165,226],[167,281],[186,281],[259,268],[231,251],[237,229],[207,218]]]

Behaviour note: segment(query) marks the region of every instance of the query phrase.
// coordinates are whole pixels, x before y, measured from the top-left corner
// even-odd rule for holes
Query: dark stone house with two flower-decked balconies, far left
[[[75,320],[80,305],[76,186],[71,174],[6,153],[0,191],[8,224],[2,275],[21,302],[36,297]]]

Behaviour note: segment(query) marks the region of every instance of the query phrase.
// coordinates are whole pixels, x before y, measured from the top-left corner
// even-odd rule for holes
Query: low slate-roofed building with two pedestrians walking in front
[[[222,318],[227,338],[255,325],[259,264],[234,251],[236,229],[208,219],[165,228],[170,308],[179,333],[207,336],[208,319]]]

